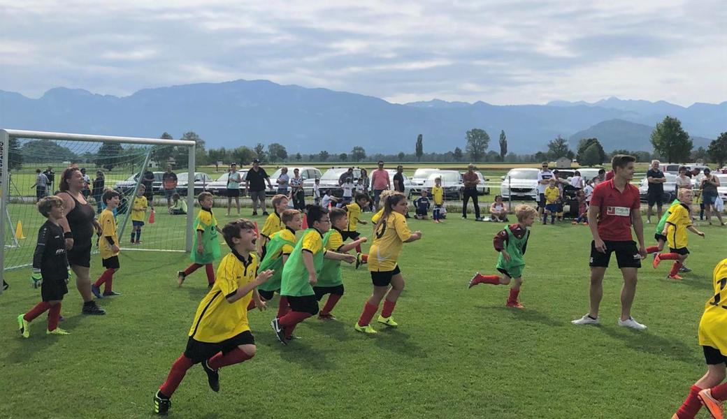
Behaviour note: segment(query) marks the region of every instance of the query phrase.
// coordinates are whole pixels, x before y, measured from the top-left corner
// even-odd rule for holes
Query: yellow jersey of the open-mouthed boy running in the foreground
[[[195,341],[218,343],[250,330],[247,322],[247,305],[252,299],[252,289],[243,298],[230,303],[228,296],[238,288],[252,282],[257,271],[257,256],[248,259],[237,253],[228,253],[217,267],[217,280],[197,306],[189,335]]]

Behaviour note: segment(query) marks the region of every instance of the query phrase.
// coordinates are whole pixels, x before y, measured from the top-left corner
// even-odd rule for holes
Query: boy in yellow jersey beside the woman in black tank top
[[[119,252],[121,252],[121,249],[119,248],[119,237],[116,235],[116,219],[113,217],[113,210],[119,207],[119,198],[119,192],[112,189],[105,190],[101,196],[103,205],[106,208],[101,211],[101,215],[98,217],[98,222],[101,224],[101,237],[98,240],[98,249],[103,260],[103,267],[106,270],[91,285],[91,292],[96,298],[121,295],[111,289],[113,274],[121,267],[119,265]],[[103,294],[101,294],[100,290],[101,284],[104,284]]]

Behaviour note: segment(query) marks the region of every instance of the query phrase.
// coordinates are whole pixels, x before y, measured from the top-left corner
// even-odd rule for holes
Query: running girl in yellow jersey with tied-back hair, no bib
[[[382,298],[384,308],[378,321],[387,326],[398,326],[391,317],[396,300],[404,289],[404,278],[396,263],[403,243],[411,243],[422,238],[422,232],[411,232],[406,225],[404,214],[407,209],[406,197],[393,193],[384,200],[384,212],[374,226],[374,243],[369,249],[369,272],[374,283],[374,293],[364,304],[356,330],[363,333],[376,333],[369,324],[379,311]]]

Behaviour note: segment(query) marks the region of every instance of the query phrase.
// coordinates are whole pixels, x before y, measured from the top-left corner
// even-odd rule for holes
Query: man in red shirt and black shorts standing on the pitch
[[[636,294],[636,273],[641,267],[641,259],[646,257],[643,243],[643,222],[638,188],[630,184],[634,176],[632,155],[615,155],[611,160],[614,178],[601,182],[593,190],[588,219],[590,222],[590,310],[574,325],[598,325],[598,307],[603,298],[603,274],[606,273],[611,253],[616,253],[616,262],[624,276],[621,290],[621,318],[619,326],[637,330],[646,329],[631,317],[631,304]],[[638,240],[638,248],[631,237],[633,227]]]

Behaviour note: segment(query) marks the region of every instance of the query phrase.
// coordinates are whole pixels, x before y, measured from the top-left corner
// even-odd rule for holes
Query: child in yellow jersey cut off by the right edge
[[[702,404],[713,418],[723,418],[722,404],[727,399],[727,383],[722,383],[727,370],[727,259],[715,267],[714,296],[704,304],[699,322],[699,344],[704,350],[707,373],[691,386],[688,396],[672,419],[691,419]]]

